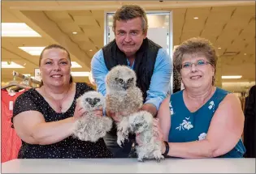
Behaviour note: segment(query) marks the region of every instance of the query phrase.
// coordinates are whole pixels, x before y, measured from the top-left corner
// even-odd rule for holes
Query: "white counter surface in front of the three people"
[[[2,163],[2,173],[255,173],[255,159],[14,159]]]

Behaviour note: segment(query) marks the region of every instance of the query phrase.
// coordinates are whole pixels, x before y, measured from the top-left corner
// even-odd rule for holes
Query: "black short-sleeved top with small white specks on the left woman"
[[[93,91],[85,83],[76,83],[76,95],[72,106],[67,112],[58,113],[46,102],[36,89],[25,91],[15,100],[13,117],[24,111],[38,111],[45,117],[46,122],[60,121],[72,117],[76,108],[76,99],[86,91]],[[98,142],[80,141],[72,136],[50,145],[28,144],[22,141],[19,159],[78,159],[78,158],[111,158],[112,154],[106,148],[103,138]]]

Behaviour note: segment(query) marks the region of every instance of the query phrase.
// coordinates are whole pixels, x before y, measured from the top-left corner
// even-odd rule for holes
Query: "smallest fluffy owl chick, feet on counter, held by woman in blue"
[[[155,140],[153,133],[153,116],[150,112],[140,111],[128,117],[129,129],[137,135],[138,146],[136,152],[137,160],[157,159],[160,162],[164,159],[161,147],[162,142]]]

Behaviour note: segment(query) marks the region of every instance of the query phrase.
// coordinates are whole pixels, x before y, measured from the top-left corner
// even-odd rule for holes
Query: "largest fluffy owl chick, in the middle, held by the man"
[[[115,66],[106,74],[106,110],[114,112],[117,124],[117,142],[122,145],[128,138],[128,116],[143,104],[141,90],[136,87],[137,77],[128,66]]]

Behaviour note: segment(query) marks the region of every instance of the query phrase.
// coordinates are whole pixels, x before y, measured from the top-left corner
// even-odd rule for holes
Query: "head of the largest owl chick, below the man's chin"
[[[106,86],[115,91],[127,91],[136,86],[136,74],[128,66],[115,66],[106,75]]]

